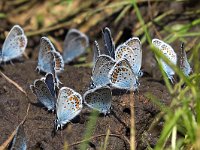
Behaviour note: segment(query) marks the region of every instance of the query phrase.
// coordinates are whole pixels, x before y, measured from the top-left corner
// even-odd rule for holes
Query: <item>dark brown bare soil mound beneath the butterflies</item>
[[[68,124],[62,131],[58,131],[53,136],[55,115],[47,112],[44,108],[37,106],[36,97],[32,94],[29,86],[35,79],[42,77],[35,72],[36,62],[25,61],[14,65],[3,65],[2,72],[18,83],[28,93],[31,100],[29,115],[24,124],[27,136],[28,149],[62,149],[65,142],[73,144],[81,141],[89,117],[89,109],[84,108],[80,116],[72,123]],[[83,94],[90,82],[91,69],[65,66],[65,71],[60,74],[63,86],[68,86]],[[2,144],[23,120],[28,99],[11,83],[0,77],[0,144]],[[130,96],[135,102],[135,123],[136,123],[136,145],[138,149],[143,149],[146,144],[142,142],[142,134],[148,130],[155,115],[159,112],[145,94],[156,95],[162,103],[169,103],[170,97],[164,85],[151,77],[140,79],[139,92],[133,94],[119,90],[113,90],[112,112],[109,116],[99,116],[93,136],[106,134],[110,129],[111,134],[118,134],[120,137],[110,136],[108,149],[129,149],[126,138],[130,136]],[[90,141],[90,146],[99,149],[105,136],[94,138]],[[146,139],[148,140],[148,139]],[[155,139],[149,141],[154,145]],[[70,149],[78,149],[78,145],[73,145]]]

